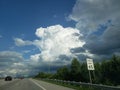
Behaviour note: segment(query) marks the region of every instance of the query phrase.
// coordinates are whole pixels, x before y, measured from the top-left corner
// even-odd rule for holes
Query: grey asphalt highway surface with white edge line
[[[71,88],[34,80],[15,79],[12,81],[0,80],[0,90],[73,90]]]

